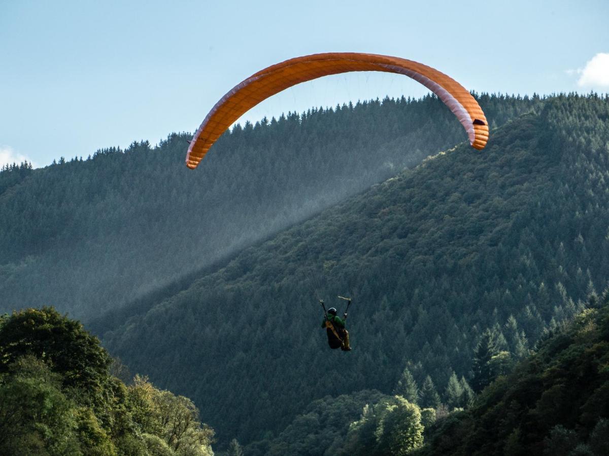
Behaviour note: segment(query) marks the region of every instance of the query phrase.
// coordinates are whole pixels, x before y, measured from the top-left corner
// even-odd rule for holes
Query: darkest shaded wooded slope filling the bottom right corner
[[[607,334],[609,300],[541,342],[458,420],[438,420],[420,454],[607,454]]]

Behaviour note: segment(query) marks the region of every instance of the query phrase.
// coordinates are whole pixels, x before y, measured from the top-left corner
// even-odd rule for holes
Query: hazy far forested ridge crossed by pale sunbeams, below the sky
[[[492,125],[539,97],[479,97]],[[246,123],[184,165],[190,134],[0,172],[0,311],[88,321],[217,269],[347,196],[466,139],[440,100],[385,99]],[[85,153],[86,155],[86,153]],[[198,275],[197,275],[198,274]],[[187,281],[188,282],[188,281]]]

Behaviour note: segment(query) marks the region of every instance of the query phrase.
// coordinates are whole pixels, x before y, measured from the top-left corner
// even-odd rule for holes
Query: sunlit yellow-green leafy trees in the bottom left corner
[[[97,337],[53,308],[0,318],[0,454],[211,455],[187,398],[109,373]]]

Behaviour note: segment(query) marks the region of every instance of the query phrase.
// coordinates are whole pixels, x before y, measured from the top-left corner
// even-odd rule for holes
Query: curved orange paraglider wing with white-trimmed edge
[[[292,58],[269,66],[234,86],[209,111],[194,134],[186,165],[196,168],[214,142],[250,108],[298,83],[350,71],[384,71],[409,76],[434,92],[457,116],[472,147],[481,150],[488,140],[484,112],[462,85],[436,69],[405,58],[357,52],[329,52]]]

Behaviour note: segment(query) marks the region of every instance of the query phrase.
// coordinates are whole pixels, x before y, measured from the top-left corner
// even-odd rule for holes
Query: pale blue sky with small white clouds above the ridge
[[[608,22],[606,0],[0,0],[0,165],[194,131],[239,81],[317,52],[409,58],[479,92],[609,92]],[[425,93],[400,75],[337,75],[242,121]]]

